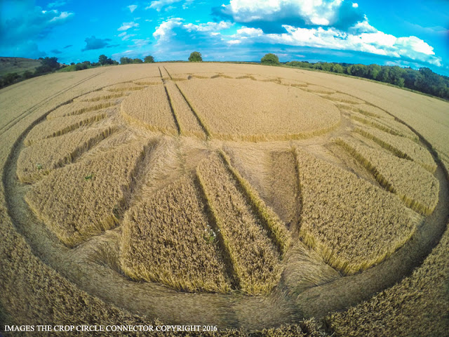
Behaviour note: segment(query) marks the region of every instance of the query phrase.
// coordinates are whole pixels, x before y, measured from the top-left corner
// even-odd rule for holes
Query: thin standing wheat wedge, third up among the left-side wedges
[[[81,126],[86,126],[105,119],[109,114],[108,110],[93,111],[82,114],[81,116],[60,117],[38,124],[29,131],[24,140],[25,145],[29,146],[36,143],[37,140],[61,136],[70,131],[74,131]]]

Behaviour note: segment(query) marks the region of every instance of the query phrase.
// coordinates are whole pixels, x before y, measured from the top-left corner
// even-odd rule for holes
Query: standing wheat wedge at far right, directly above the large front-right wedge
[[[338,138],[336,142],[373,173],[380,185],[398,194],[408,207],[424,215],[434,211],[440,185],[422,166],[348,138]]]

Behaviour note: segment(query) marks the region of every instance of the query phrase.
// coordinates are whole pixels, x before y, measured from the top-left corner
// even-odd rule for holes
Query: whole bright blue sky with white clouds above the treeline
[[[430,67],[449,75],[449,1],[0,0],[0,56],[60,62],[260,60]]]

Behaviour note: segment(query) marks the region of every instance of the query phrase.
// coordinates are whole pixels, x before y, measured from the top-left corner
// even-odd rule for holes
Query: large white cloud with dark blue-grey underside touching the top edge
[[[265,33],[285,32],[283,25],[347,29],[363,20],[358,6],[342,0],[231,0],[213,8],[213,13]]]

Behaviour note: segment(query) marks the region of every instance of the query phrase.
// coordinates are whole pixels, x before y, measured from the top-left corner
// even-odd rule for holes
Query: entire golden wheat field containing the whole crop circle
[[[2,324],[446,333],[449,103],[212,62],[0,101]]]

